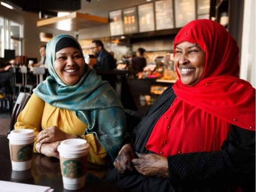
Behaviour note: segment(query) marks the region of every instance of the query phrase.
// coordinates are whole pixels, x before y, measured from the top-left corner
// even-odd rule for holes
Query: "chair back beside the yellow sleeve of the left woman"
[[[19,113],[21,113],[23,108],[26,106],[30,97],[31,95],[26,94],[24,92],[19,93],[19,96],[17,97],[16,103],[14,105],[14,108],[12,109],[11,123],[10,123],[10,128],[7,134],[9,134],[12,130],[14,130],[14,124],[17,122],[17,117],[19,116]]]

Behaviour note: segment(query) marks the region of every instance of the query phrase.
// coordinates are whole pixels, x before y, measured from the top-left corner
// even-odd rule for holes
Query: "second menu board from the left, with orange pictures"
[[[139,32],[136,7],[130,7],[122,11],[124,18],[124,34]]]

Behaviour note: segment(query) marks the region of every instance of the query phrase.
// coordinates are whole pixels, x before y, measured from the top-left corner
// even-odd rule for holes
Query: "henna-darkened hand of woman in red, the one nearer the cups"
[[[117,168],[119,173],[124,173],[125,171],[134,170],[132,166],[132,159],[135,158],[135,153],[131,144],[124,145],[119,154],[114,161],[114,166]]]

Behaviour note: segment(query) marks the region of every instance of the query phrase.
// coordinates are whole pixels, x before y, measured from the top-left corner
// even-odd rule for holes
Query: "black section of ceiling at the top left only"
[[[2,0],[21,11],[71,12],[81,9],[81,0]]]

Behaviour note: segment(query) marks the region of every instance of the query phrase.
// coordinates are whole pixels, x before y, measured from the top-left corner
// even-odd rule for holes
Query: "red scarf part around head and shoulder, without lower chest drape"
[[[174,39],[205,50],[204,74],[192,87],[179,80],[173,89],[177,97],[215,117],[238,127],[255,131],[255,89],[239,79],[239,47],[219,23],[208,19],[189,22]]]

